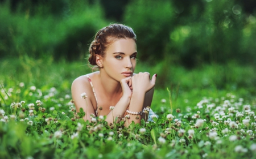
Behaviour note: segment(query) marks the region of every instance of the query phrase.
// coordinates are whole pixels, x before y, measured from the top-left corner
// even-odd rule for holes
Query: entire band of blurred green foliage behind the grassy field
[[[117,20],[134,28],[138,58],[152,65],[163,61],[163,67],[229,61],[253,65],[256,18],[253,11],[245,11],[245,4],[235,0],[3,1],[0,55],[83,59],[97,30]]]

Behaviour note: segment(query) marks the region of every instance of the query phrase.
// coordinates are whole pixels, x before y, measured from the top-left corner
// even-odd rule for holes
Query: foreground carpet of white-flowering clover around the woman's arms
[[[170,97],[154,122],[126,128],[127,116],[108,126],[76,113],[71,93],[58,88],[1,83],[0,95],[0,158],[256,158],[255,98],[228,93],[173,109]]]

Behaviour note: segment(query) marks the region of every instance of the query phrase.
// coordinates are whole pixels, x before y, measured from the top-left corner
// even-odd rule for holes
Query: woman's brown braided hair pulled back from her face
[[[90,65],[97,65],[96,55],[105,57],[105,51],[108,45],[110,45],[113,40],[121,38],[132,38],[135,42],[137,41],[133,29],[123,24],[110,24],[100,29],[89,47],[90,55],[88,61]]]

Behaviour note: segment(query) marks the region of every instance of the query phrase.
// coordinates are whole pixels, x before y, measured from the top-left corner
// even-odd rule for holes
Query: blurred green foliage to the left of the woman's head
[[[60,7],[65,8],[57,11],[53,8],[56,2],[49,2],[37,6],[20,3],[15,12],[9,3],[1,4],[2,57],[27,54],[33,58],[81,59],[89,39],[99,28],[108,25],[98,3],[67,1],[67,5],[60,3]]]

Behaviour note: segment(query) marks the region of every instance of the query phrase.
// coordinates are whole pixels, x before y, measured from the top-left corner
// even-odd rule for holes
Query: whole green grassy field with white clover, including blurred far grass
[[[121,121],[112,128],[99,117],[83,121],[72,107],[73,79],[91,71],[84,62],[1,59],[0,158],[256,157],[254,68],[172,66],[167,73],[163,66],[137,66],[158,73],[162,83],[151,105],[155,123],[126,128]]]

